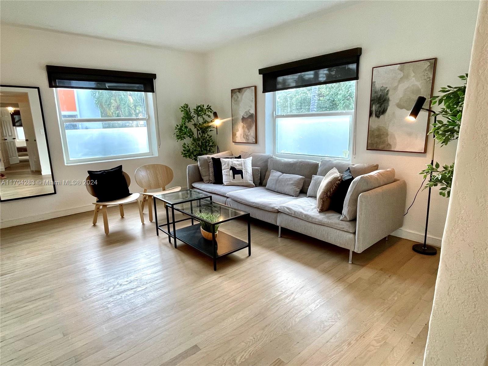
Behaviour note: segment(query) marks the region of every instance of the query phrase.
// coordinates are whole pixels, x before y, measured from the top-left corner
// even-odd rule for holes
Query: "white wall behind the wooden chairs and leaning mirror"
[[[47,138],[56,180],[84,180],[86,171],[122,164],[132,177],[131,192],[140,188],[134,171],[146,163],[163,163],[173,168],[173,185],[186,185],[186,170],[191,163],[180,155],[179,142],[173,138],[175,123],[180,119],[178,107],[203,102],[203,56],[189,52],[100,40],[36,29],[2,25],[0,29],[0,79],[2,84],[39,86],[46,122]],[[47,64],[140,71],[157,74],[156,91],[161,133],[157,158],[121,160],[106,163],[64,165],[61,134],[56,113],[54,89],[47,83]],[[1,203],[1,225],[30,222],[81,212],[93,202],[84,186],[57,186],[57,194]],[[22,221],[23,220],[23,221]]]

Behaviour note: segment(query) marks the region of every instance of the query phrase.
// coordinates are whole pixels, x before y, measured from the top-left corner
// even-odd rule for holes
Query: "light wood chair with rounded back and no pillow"
[[[163,164],[146,164],[136,169],[134,174],[136,183],[144,189],[142,192],[142,211],[144,211],[144,203],[148,201],[149,206],[149,221],[153,221],[153,197],[157,194],[164,194],[170,192],[177,192],[182,189],[180,186],[166,189],[166,185],[173,180],[173,170],[167,165]],[[148,192],[148,189],[161,189],[158,192]]]

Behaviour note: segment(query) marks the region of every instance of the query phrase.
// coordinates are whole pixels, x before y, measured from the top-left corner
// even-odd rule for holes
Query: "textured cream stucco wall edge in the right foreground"
[[[488,1],[482,0],[424,365],[488,365],[487,131]]]

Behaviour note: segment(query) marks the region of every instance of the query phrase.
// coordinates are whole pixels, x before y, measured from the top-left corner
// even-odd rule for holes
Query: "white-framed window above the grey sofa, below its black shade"
[[[349,159],[356,81],[275,92],[278,155]]]

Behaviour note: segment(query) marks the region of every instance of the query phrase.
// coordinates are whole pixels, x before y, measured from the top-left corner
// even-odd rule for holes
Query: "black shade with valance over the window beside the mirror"
[[[50,88],[154,93],[156,74],[46,65]]]

